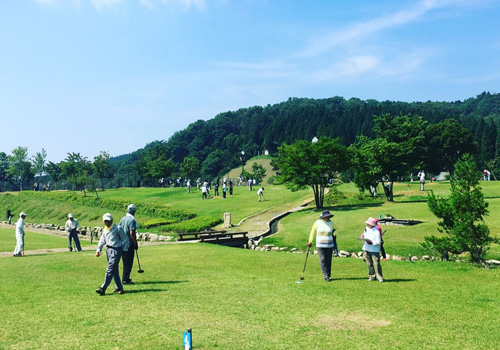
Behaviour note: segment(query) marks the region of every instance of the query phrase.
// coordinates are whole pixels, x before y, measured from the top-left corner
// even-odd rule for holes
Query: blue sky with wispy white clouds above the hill
[[[500,93],[499,18],[500,0],[2,1],[0,151],[118,156],[289,97]]]

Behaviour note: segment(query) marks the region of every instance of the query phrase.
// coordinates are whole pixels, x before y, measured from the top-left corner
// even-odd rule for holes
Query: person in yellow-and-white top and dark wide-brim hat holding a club
[[[309,234],[308,248],[311,248],[314,237],[316,236],[316,250],[318,251],[319,264],[323,279],[329,282],[332,272],[332,254],[334,248],[333,233],[338,230],[338,226],[330,219],[333,214],[329,210],[324,210],[319,220],[316,220]]]

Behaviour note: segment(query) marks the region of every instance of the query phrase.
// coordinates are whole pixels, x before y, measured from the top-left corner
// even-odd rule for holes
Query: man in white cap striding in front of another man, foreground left
[[[113,225],[113,217],[111,214],[104,214],[102,220],[104,221],[104,230],[102,232],[101,239],[99,239],[95,255],[97,257],[101,256],[102,248],[106,246],[108,268],[106,269],[106,274],[104,276],[104,283],[97,288],[96,293],[104,295],[106,293],[106,288],[108,288],[111,283],[111,279],[113,279],[116,287],[115,292],[123,294],[123,285],[120,280],[118,265],[120,264],[123,250],[128,250],[128,238],[120,226],[116,224]]]

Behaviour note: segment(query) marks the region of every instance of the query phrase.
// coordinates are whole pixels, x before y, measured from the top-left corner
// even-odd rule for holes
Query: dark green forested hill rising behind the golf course
[[[240,152],[251,157],[264,150],[271,153],[283,143],[314,136],[339,137],[345,145],[358,135],[374,136],[373,116],[389,113],[419,115],[430,124],[453,118],[468,128],[481,147],[484,161],[497,155],[500,94],[484,92],[475,98],[455,102],[397,102],[344,99],[290,98],[266,107],[242,108],[213,119],[198,120],[176,132],[168,141],[152,142],[144,149],[115,158],[116,163],[134,163],[154,149],[180,164],[185,157],[200,161],[202,173],[217,175],[240,163]],[[499,139],[500,141],[500,139]]]

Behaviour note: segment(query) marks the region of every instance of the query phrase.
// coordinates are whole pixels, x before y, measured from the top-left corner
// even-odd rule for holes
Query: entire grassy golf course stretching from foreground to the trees
[[[485,222],[491,235],[500,237],[500,183],[481,185],[490,212]],[[96,242],[88,235],[80,236],[82,252],[68,252],[64,234],[26,227],[26,256],[14,258],[15,227],[3,225],[0,349],[183,349],[187,329],[192,329],[193,349],[498,349],[500,268],[484,269],[467,256],[421,259],[424,237],[442,235],[426,203],[431,190],[447,196],[450,183],[428,183],[423,192],[416,182],[396,183],[394,202],[360,195],[351,183],[328,195],[325,209],[340,227],[339,249],[350,253],[361,251],[357,238],[368,217],[422,221],[382,226],[389,255],[382,262],[384,283],[368,282],[365,263],[353,257],[334,258],[332,280],[326,283],[314,254],[297,283],[311,226],[321,213],[310,203],[308,189],[265,185],[262,202],[256,190],[244,186],[235,186],[226,199],[208,200],[196,188],[190,194],[185,188],[110,189],[99,192],[95,202],[81,201],[83,194],[71,191],[3,193],[0,211],[12,210],[13,222],[25,211],[27,223],[64,225],[71,212],[82,226],[102,226],[102,214],[110,212],[118,221],[126,204],[135,203],[139,232],[174,238],[168,225],[141,228],[160,220],[151,208],[169,208],[183,217],[180,224],[215,218],[214,229],[221,229],[223,214],[230,212],[230,231],[251,232],[274,213],[303,207],[281,219],[278,232],[259,245],[286,251],[141,241],[144,273],[137,273],[134,262],[134,284],[125,286],[124,295],[113,293],[113,284],[106,295],[95,293],[107,263],[95,256]],[[122,209],[115,206],[118,201]],[[106,207],[109,203],[113,207]],[[402,260],[393,260],[394,255]],[[408,261],[408,255],[418,260]],[[500,260],[500,247],[493,244],[487,258]]]

